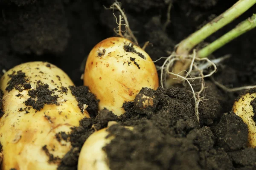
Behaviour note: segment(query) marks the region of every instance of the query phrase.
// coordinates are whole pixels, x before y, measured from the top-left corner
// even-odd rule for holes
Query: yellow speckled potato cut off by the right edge
[[[250,104],[255,99],[256,93],[244,93],[233,105],[233,112],[241,117],[248,126],[248,144],[256,147],[256,122],[253,120],[253,106]]]

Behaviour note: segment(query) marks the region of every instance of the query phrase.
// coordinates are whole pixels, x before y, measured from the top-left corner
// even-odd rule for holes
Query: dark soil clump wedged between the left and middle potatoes
[[[95,117],[98,114],[99,100],[96,99],[94,94],[89,92],[89,88],[87,86],[70,86],[69,88],[73,96],[76,97],[81,113],[84,112],[84,105],[88,105],[86,111],[88,111],[91,117]]]

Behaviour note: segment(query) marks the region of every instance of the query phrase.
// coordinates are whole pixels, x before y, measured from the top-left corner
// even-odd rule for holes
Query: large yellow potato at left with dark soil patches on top
[[[71,144],[55,134],[68,133],[89,117],[81,113],[70,85],[67,74],[47,62],[27,62],[3,75],[3,170],[56,170]]]

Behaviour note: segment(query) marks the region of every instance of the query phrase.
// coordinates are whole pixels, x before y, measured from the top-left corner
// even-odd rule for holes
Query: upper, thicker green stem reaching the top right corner
[[[195,47],[195,45],[198,45],[201,41],[209,37],[212,33],[218,31],[220,28],[235,20],[255,3],[256,0],[239,0],[220,16],[216,17],[214,20],[207,23],[200,30],[196,31],[185,40],[180,42],[176,53],[189,54],[189,51],[191,51],[192,48]]]

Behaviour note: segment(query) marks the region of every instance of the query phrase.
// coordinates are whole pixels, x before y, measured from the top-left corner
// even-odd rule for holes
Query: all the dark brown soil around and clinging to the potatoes
[[[169,56],[169,52],[181,40],[236,1],[172,0],[170,22],[164,28],[171,0],[120,0],[139,45],[142,47],[145,42],[150,42],[145,51],[152,60]],[[67,140],[72,144],[72,149],[62,160],[52,158],[53,161],[61,162],[58,170],[76,170],[78,156],[86,139],[96,130],[107,127],[109,121],[118,122],[108,130],[116,136],[115,139],[104,147],[111,170],[256,169],[256,150],[246,145],[247,125],[231,111],[233,102],[243,91],[227,93],[216,87],[210,79],[205,79],[206,96],[199,105],[199,123],[191,94],[182,87],[157,88],[155,91],[143,88],[133,102],[124,103],[125,114],[120,117],[106,109],[97,111],[99,101],[87,87],[82,86],[81,74],[93,46],[116,35],[113,32],[113,28],[116,28],[113,13],[104,8],[113,2],[0,0],[0,76],[23,62],[47,61],[64,70],[73,80],[77,87],[72,86],[70,89],[81,111],[84,104],[88,105],[90,119],[82,119],[80,126],[74,127],[70,134],[56,134],[58,140]],[[250,17],[255,10],[256,6],[253,6],[199,46],[216,40]],[[119,13],[115,12],[115,15]],[[218,58],[231,54],[230,58],[218,65],[215,80],[227,87],[256,83],[254,37],[256,31],[249,31],[210,56]],[[127,50],[132,51],[132,48]],[[155,64],[160,66],[163,61],[159,60]],[[131,62],[136,64],[133,59]],[[22,71],[10,76],[10,90],[15,88],[22,91],[31,87]],[[41,90],[44,91],[44,88]],[[47,90],[47,96],[55,101],[54,94],[50,94],[51,89]],[[61,88],[62,93],[66,91]],[[0,96],[2,99],[3,94],[0,93]],[[31,94],[31,101],[35,96],[38,98],[38,95]],[[34,104],[28,105],[35,109],[44,107],[35,107]],[[252,105],[255,108],[255,101]],[[3,115],[0,109],[0,116]],[[124,125],[134,126],[134,130],[126,129]],[[47,148],[45,151],[47,153]]]

